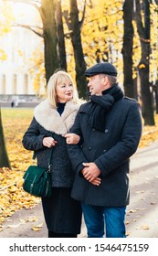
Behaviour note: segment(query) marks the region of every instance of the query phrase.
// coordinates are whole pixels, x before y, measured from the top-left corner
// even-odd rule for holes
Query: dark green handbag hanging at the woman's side
[[[36,197],[50,197],[51,196],[51,176],[50,176],[50,161],[53,152],[53,147],[50,151],[49,162],[47,168],[42,168],[37,165],[30,165],[26,169],[23,176],[23,189]],[[34,154],[35,155],[35,154]],[[33,156],[35,159],[35,157]]]

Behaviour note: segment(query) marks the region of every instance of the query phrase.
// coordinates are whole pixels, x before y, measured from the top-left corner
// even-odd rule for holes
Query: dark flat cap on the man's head
[[[117,77],[117,69],[109,62],[101,62],[92,66],[85,71],[86,77],[92,77],[98,74],[106,74]]]

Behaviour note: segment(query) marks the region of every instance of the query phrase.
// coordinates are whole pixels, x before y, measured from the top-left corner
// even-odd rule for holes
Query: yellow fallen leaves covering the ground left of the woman
[[[33,208],[40,200],[22,188],[32,153],[24,149],[21,141],[32,115],[33,110],[2,109],[5,144],[12,170],[0,168],[0,227],[17,209]]]

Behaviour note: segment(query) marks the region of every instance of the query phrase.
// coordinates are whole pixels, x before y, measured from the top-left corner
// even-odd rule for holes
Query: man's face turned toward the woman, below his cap
[[[106,88],[105,83],[106,77],[100,77],[99,75],[90,77],[90,80],[88,82],[88,87],[90,89],[90,95],[102,95],[102,91],[104,91]]]

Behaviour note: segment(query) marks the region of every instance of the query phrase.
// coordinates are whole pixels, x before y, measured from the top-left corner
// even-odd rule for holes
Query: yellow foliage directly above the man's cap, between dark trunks
[[[109,61],[117,67],[122,81],[122,0],[89,0],[86,10],[81,36],[88,67]]]

